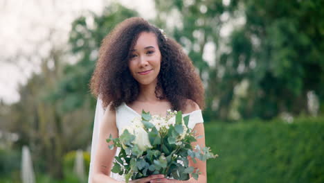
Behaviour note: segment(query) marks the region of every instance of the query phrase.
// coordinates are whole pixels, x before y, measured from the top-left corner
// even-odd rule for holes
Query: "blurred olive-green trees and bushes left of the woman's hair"
[[[69,40],[78,62],[67,64],[64,46],[53,46],[50,54],[42,58],[42,72],[20,87],[21,100],[10,108],[7,130],[19,134],[18,147],[30,146],[35,171],[63,179],[64,154],[89,146],[96,100],[89,94],[88,83],[96,51],[111,28],[136,15],[116,4],[103,15],[79,17],[73,22]],[[54,66],[49,67],[49,62]]]

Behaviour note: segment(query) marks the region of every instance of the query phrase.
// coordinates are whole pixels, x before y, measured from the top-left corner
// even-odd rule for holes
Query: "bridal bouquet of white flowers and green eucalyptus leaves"
[[[152,174],[176,180],[188,180],[191,174],[197,180],[199,169],[189,166],[188,156],[196,163],[195,158],[206,161],[217,155],[208,147],[192,148],[191,143],[201,137],[196,137],[188,128],[189,117],[182,117],[181,111],[168,110],[165,118],[143,111],[141,117],[133,119],[131,126],[123,128],[119,138],[113,139],[110,135],[107,139],[113,142],[110,149],[120,148],[111,171],[125,175],[126,182],[129,178],[136,180]]]

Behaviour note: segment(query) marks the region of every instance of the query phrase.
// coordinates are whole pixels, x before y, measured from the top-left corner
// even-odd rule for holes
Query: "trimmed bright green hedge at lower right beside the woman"
[[[206,123],[208,182],[324,182],[324,118]]]

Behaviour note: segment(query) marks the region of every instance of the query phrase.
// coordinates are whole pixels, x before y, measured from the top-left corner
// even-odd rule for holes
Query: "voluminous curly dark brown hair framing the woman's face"
[[[154,33],[161,51],[156,97],[170,101],[173,110],[184,110],[187,99],[203,109],[204,87],[188,55],[176,41],[139,17],[125,19],[102,40],[90,82],[91,93],[100,96],[104,107],[111,103],[110,110],[136,100],[139,84],[132,77],[128,62],[130,50],[142,32]]]

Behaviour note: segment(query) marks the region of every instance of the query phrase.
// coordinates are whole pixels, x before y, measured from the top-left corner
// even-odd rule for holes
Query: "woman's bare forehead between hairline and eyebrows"
[[[157,48],[158,43],[154,33],[143,32],[138,35],[134,49],[145,48],[146,46],[154,46]]]

